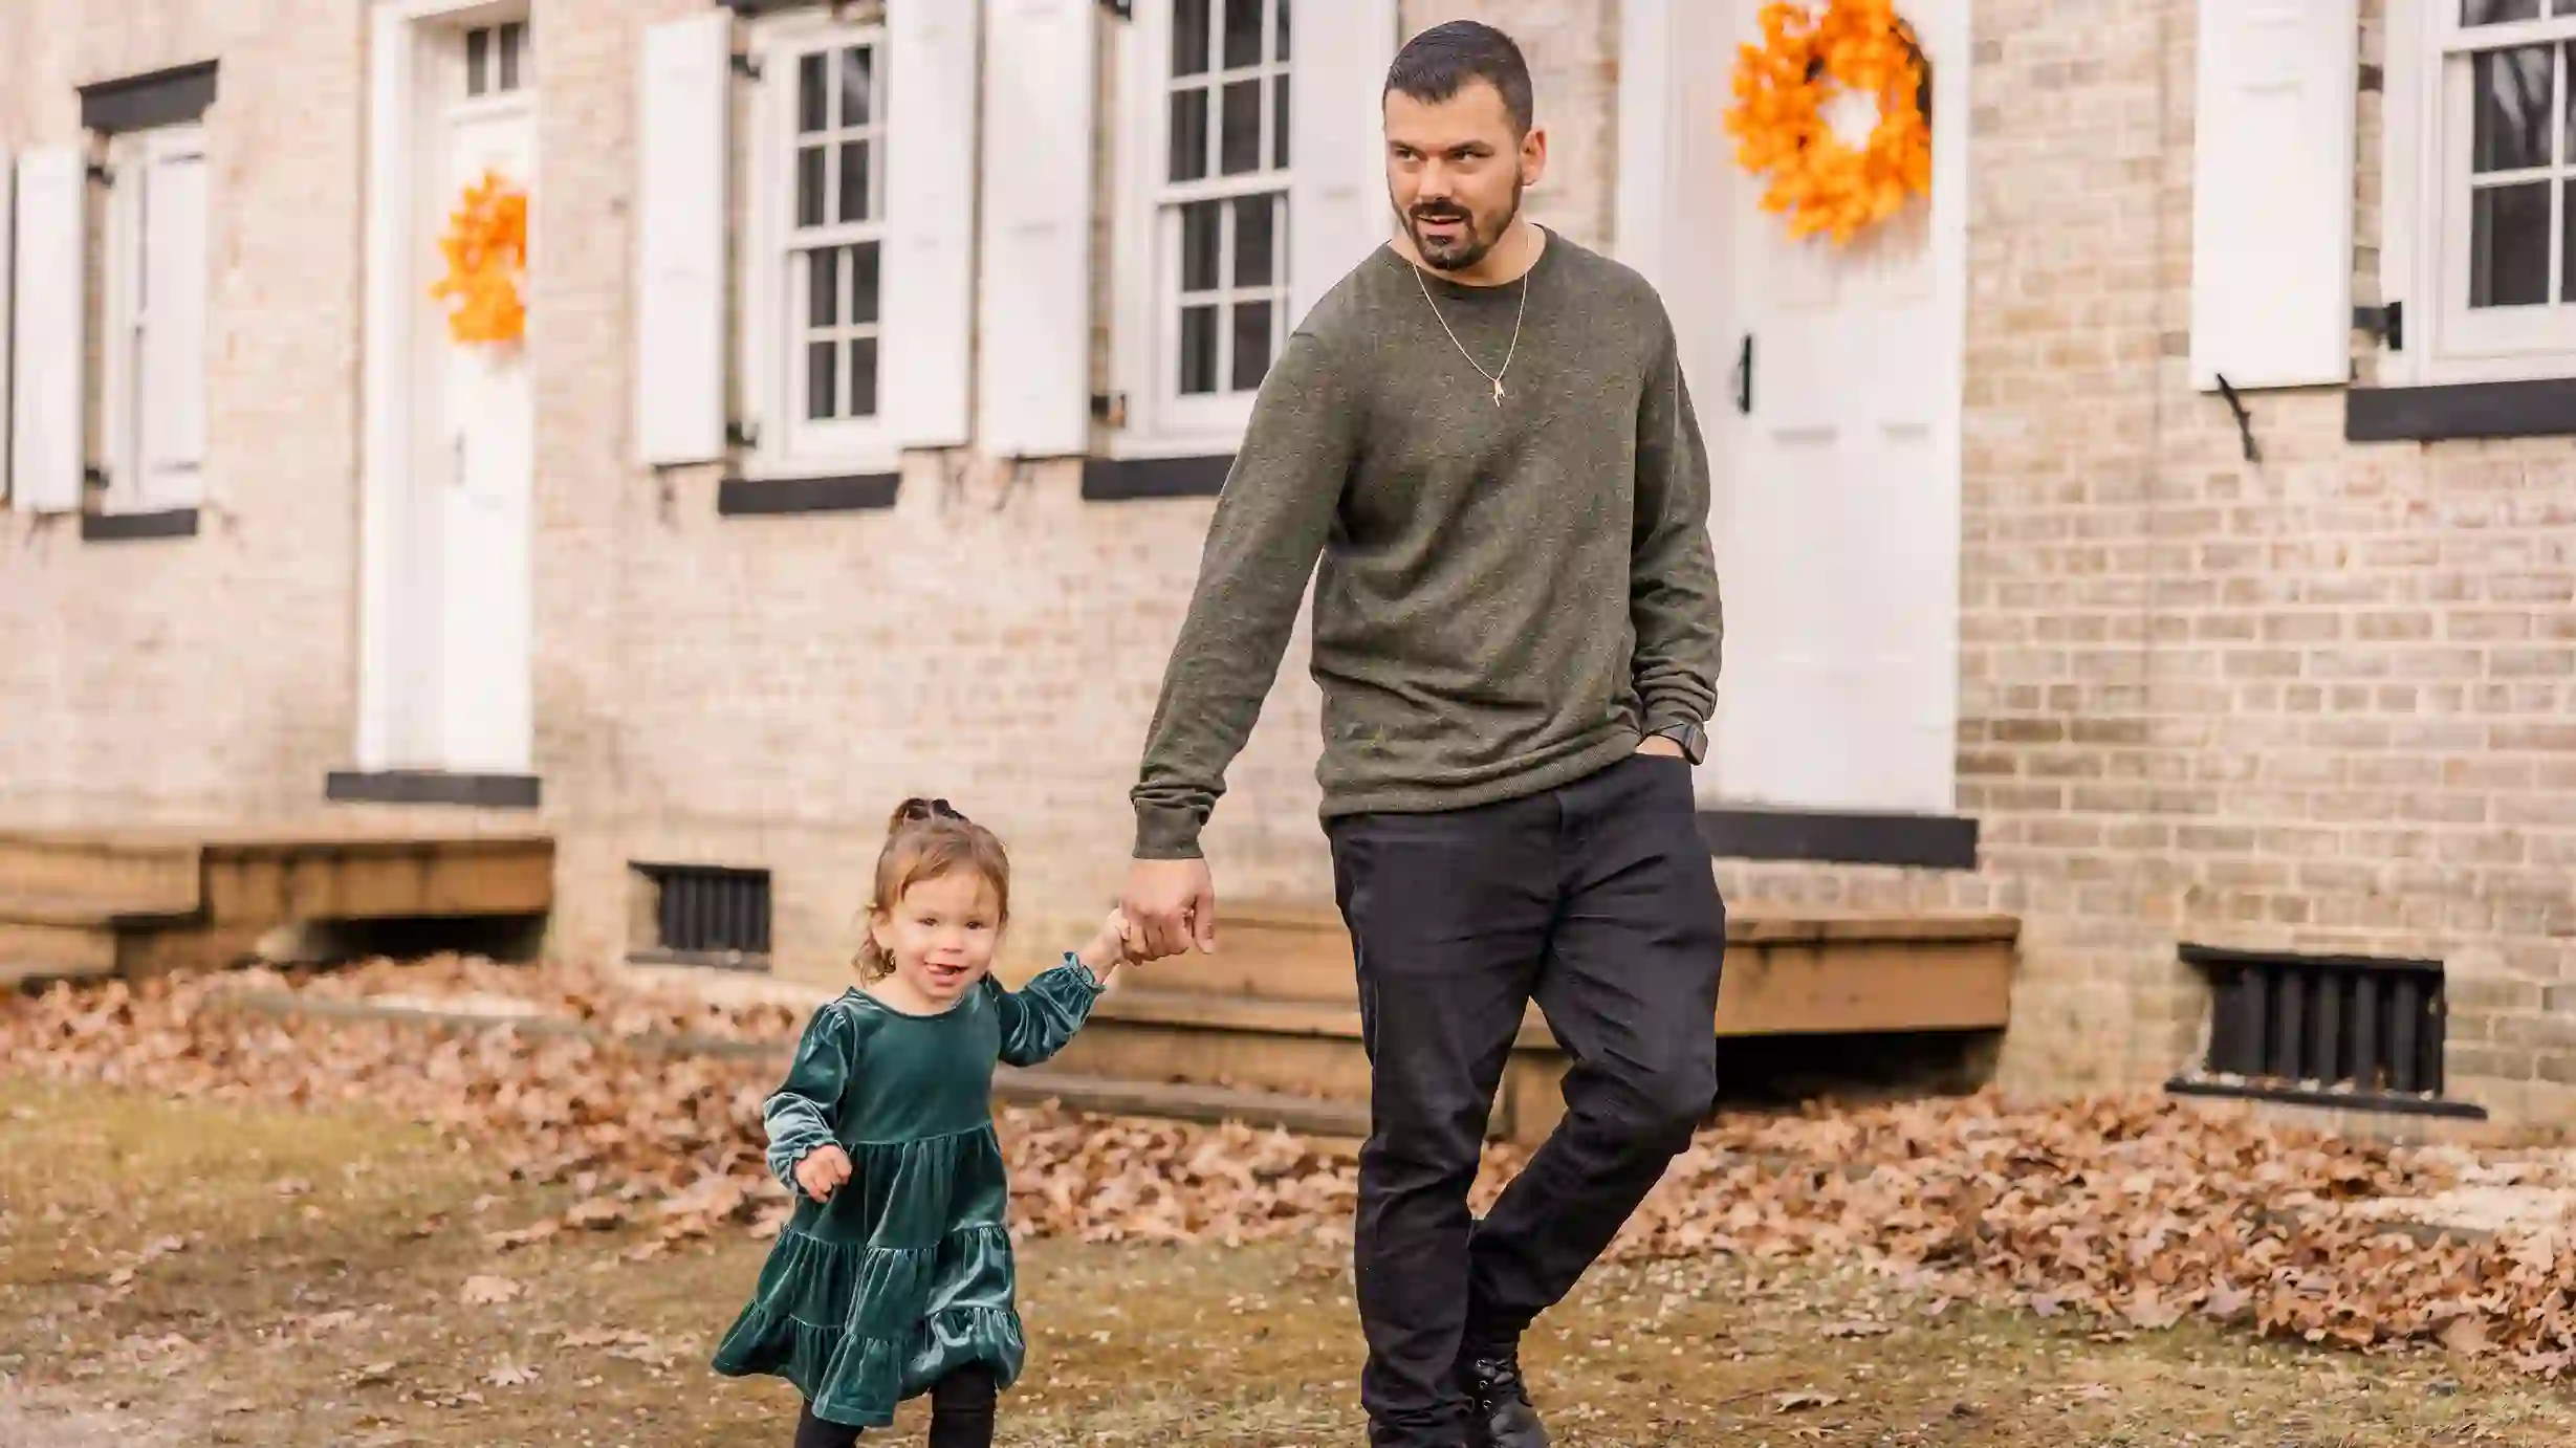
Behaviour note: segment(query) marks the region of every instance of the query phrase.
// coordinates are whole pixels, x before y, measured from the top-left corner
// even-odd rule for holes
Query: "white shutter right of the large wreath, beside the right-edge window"
[[[2192,384],[2352,381],[2357,0],[2202,0]]]

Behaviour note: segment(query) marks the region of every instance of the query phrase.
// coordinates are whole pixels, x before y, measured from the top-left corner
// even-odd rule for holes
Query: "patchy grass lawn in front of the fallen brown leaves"
[[[786,1445],[791,1389],[703,1366],[762,1244],[507,1247],[587,1185],[497,1152],[366,1105],[0,1074],[0,1443]],[[1363,1440],[1342,1247],[1051,1237],[1023,1309],[1005,1443]],[[2576,1440],[2576,1394],[2494,1360],[2102,1329],[1814,1260],[1602,1268],[1530,1368],[1574,1448]]]

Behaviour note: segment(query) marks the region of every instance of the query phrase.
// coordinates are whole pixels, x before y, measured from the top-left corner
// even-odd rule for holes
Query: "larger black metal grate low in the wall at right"
[[[2205,1072],[2254,1085],[2442,1095],[2442,964],[2184,946],[2210,979]]]

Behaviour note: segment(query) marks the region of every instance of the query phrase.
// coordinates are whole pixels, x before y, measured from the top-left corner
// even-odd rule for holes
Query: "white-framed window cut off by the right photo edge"
[[[2576,0],[2398,0],[2388,62],[2396,371],[2576,376]]]

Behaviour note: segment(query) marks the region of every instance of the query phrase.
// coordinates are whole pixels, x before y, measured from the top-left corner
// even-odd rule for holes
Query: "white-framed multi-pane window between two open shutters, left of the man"
[[[744,386],[765,472],[891,466],[884,407],[886,31],[755,28]]]

